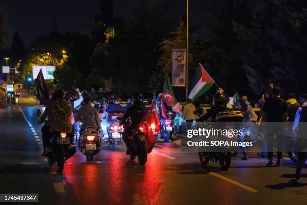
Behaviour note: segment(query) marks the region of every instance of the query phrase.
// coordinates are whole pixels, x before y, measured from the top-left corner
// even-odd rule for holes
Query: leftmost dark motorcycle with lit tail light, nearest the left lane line
[[[57,163],[58,171],[62,171],[66,160],[76,153],[76,148],[72,146],[72,139],[68,137],[67,132],[56,132],[50,143],[53,152],[47,154],[48,165],[52,166]]]

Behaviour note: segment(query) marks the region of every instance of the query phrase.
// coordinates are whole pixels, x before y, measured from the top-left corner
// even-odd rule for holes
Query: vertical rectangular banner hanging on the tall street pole
[[[172,50],[172,86],[186,85],[186,50]]]

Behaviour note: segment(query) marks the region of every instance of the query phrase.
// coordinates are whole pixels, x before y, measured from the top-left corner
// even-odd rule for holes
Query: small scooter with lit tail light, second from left
[[[101,148],[101,139],[96,129],[93,127],[86,127],[79,137],[78,146],[80,152],[86,155],[86,160],[92,161],[93,155],[98,154]]]

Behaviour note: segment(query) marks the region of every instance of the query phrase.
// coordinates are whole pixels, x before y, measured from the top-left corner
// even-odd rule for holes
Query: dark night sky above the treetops
[[[115,15],[127,20],[133,19],[133,9],[137,2],[137,0],[115,0]],[[212,0],[190,1],[191,16],[204,16],[197,4],[208,4],[208,2]],[[27,46],[36,36],[54,31],[54,22],[60,33],[79,31],[81,34],[90,35],[94,14],[100,13],[99,4],[100,0],[10,0],[2,1],[0,8],[7,18],[11,33],[18,32]],[[174,1],[173,5],[174,16],[185,14],[186,0]]]

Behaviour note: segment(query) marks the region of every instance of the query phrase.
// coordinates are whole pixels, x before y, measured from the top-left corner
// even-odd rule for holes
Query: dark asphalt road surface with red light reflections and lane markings
[[[37,108],[0,105],[0,194],[39,194],[39,204],[307,203],[307,174],[296,182],[289,159],[265,167],[266,159],[249,153],[221,171],[217,163],[202,167],[179,142],[158,143],[145,166],[130,161],[124,145],[104,145],[92,162],[77,149],[57,173],[41,156]]]

